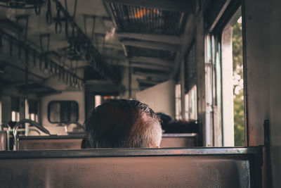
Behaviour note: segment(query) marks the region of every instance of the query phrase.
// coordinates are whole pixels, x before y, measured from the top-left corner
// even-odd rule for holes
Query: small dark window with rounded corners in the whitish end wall
[[[48,104],[48,121],[50,123],[67,123],[78,120],[76,101],[51,101]]]

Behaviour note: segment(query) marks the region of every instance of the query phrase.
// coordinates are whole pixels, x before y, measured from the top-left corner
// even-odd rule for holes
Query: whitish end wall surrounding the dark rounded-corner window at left
[[[48,121],[48,103],[50,101],[77,101],[79,106],[78,122],[83,125],[85,121],[85,100],[83,91],[62,92],[61,94],[53,94],[41,98],[42,125],[44,125],[51,134],[66,134],[64,127],[57,127],[57,123],[50,123]]]

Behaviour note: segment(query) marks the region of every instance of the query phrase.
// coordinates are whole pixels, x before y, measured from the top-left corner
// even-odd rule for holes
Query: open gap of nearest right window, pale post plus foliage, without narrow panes
[[[241,9],[224,27],[221,42],[224,142],[226,146],[244,146]]]

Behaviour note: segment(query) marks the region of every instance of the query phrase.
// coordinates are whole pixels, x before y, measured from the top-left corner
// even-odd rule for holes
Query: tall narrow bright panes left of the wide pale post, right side
[[[221,58],[219,38],[205,37],[206,144],[223,146],[221,117]]]

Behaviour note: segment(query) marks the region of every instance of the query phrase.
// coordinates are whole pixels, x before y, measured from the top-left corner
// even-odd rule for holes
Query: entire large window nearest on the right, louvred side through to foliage
[[[207,146],[244,146],[242,13],[228,8],[205,38]]]

